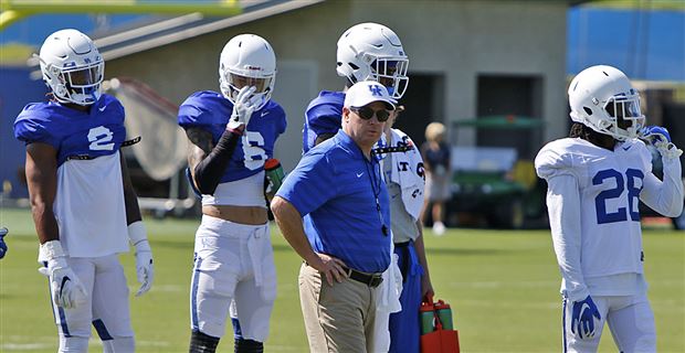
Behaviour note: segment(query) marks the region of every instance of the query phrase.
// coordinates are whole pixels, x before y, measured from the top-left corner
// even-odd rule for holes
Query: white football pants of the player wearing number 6
[[[191,329],[221,338],[231,317],[242,336],[264,342],[276,299],[276,267],[268,224],[243,225],[208,215],[196,234],[190,286]]]

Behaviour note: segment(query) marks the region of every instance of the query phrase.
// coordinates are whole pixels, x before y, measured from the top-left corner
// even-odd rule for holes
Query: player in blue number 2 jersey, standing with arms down
[[[52,99],[27,105],[14,135],[27,143],[40,272],[50,280],[60,352],[86,352],[91,324],[105,352],[133,352],[128,286],[117,255],[128,252],[129,240],[136,248],[137,296],[150,289],[154,267],[119,152],[128,143],[124,107],[101,94],[105,63],[85,34],[51,34],[38,58]]]

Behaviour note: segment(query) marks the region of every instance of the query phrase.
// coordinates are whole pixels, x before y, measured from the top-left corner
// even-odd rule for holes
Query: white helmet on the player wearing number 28
[[[644,126],[640,95],[621,71],[607,65],[580,72],[569,86],[571,120],[624,141]]]

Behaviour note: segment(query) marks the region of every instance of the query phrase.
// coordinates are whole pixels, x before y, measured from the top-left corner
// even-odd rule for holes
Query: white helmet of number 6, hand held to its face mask
[[[271,99],[276,81],[276,55],[268,42],[255,34],[240,34],[231,39],[219,57],[221,93],[235,104],[238,92],[244,86],[256,88],[253,96],[261,100],[255,110]]]

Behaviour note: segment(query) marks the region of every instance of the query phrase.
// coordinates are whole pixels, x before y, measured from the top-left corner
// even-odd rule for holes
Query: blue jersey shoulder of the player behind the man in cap
[[[316,146],[316,137],[322,133],[337,133],[342,120],[344,92],[322,90],[309,103],[305,111],[305,125],[302,129],[302,152],[306,153]]]

